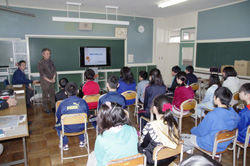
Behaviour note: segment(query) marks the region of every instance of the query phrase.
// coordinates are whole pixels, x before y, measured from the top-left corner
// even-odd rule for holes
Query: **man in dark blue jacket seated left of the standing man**
[[[12,77],[12,84],[25,84],[25,96],[26,96],[26,104],[29,107],[31,102],[30,98],[34,96],[34,90],[29,86],[30,83],[36,84],[39,81],[38,80],[29,80],[25,73],[24,70],[26,68],[26,62],[24,60],[21,60],[17,63],[18,69],[14,72],[13,77]]]

